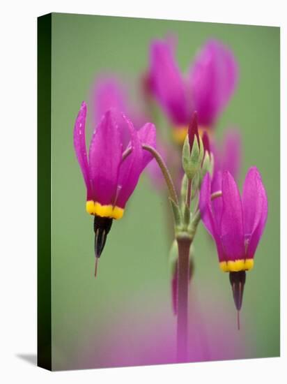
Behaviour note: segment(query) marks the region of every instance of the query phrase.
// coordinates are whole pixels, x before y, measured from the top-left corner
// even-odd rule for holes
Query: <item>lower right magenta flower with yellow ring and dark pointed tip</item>
[[[230,172],[217,172],[215,178],[211,184],[210,175],[205,175],[199,207],[205,228],[215,239],[219,266],[230,272],[239,313],[246,271],[254,267],[254,254],[267,220],[267,195],[256,167],[247,172],[242,198]],[[217,191],[212,189],[215,186]]]

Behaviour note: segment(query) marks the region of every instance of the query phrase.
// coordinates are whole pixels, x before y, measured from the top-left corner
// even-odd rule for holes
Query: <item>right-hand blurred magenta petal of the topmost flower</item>
[[[190,80],[200,125],[215,123],[235,90],[237,78],[232,52],[219,41],[209,40],[194,61]]]

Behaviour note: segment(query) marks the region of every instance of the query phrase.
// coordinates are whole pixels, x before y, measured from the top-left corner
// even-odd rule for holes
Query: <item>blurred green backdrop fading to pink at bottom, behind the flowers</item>
[[[178,36],[184,71],[210,37],[232,48],[240,80],[216,135],[221,138],[227,126],[240,129],[240,186],[249,166],[256,165],[269,200],[265,233],[247,274],[240,332],[228,274],[220,271],[215,247],[199,226],[190,360],[279,355],[279,28],[53,14],[53,369],[173,361],[176,320],[166,263],[171,244],[166,199],[143,174],[125,216],[114,221],[95,280],[93,218],[85,211],[86,191],[72,143],[75,117],[95,76],[104,71],[137,78],[147,67],[150,40],[166,34]],[[169,350],[169,357],[162,350]]]

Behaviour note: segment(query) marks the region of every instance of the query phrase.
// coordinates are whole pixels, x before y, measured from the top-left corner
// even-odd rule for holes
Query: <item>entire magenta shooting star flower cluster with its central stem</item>
[[[215,240],[220,268],[230,274],[239,311],[246,272],[254,267],[267,220],[267,194],[259,171],[251,167],[240,197],[235,182],[242,156],[238,131],[226,131],[222,146],[215,139],[217,121],[238,84],[233,52],[217,40],[208,40],[183,74],[175,48],[173,38],[150,43],[144,97],[138,103],[145,104],[142,110],[128,102],[126,84],[123,87],[112,75],[99,77],[91,98],[95,129],[88,156],[84,102],[75,122],[74,146],[86,184],[86,211],[95,218],[96,260],[112,221],[123,216],[148,163],[153,180],[160,179],[153,184],[162,189],[166,182],[173,212],[171,286],[181,361],[187,334],[187,288],[194,270],[192,243],[200,220]],[[155,125],[143,124],[156,120],[153,103],[166,115],[173,138],[166,143],[157,132],[158,151]]]

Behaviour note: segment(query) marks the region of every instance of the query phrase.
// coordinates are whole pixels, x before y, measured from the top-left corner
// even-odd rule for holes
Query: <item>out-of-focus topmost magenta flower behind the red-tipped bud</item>
[[[196,56],[188,76],[174,58],[170,40],[150,45],[148,89],[173,125],[173,138],[183,143],[192,112],[201,129],[212,128],[235,90],[238,68],[233,53],[217,40],[208,40]]]

